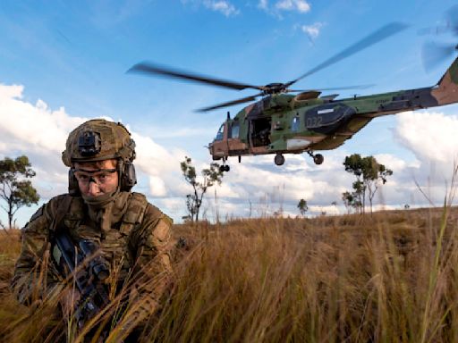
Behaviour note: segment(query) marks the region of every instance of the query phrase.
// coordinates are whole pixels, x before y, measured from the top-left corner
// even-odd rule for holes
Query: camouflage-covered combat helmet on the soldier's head
[[[132,162],[135,159],[135,142],[122,123],[104,119],[83,122],[72,130],[62,152],[62,161],[67,167],[75,162],[112,158]]]

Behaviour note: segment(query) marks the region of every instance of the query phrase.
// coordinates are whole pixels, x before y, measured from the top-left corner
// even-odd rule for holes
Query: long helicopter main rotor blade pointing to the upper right
[[[407,27],[408,25],[403,24],[402,22],[392,22],[390,24],[387,24],[382,28],[377,29],[375,32],[372,32],[369,36],[360,39],[360,41],[356,42],[352,46],[347,47],[340,53],[328,58],[325,62],[318,64],[318,66],[302,74],[299,78],[293,79],[292,81],[285,83],[285,87],[289,87],[293,85],[293,83],[299,81],[300,79],[303,79],[317,71],[329,67],[332,64],[342,61],[345,58],[351,56],[352,54],[356,54],[369,46],[373,46],[374,44],[382,41],[383,39],[393,36],[395,33],[401,32],[403,29],[406,29]]]

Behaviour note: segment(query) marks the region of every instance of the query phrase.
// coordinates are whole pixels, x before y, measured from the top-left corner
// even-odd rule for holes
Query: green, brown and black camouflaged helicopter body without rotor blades
[[[319,95],[276,94],[245,107],[223,123],[208,146],[210,154],[224,162],[228,156],[276,154],[275,163],[281,165],[283,154],[305,151],[320,164],[323,156],[313,151],[343,145],[378,116],[457,103],[458,58],[434,87],[342,100]]]

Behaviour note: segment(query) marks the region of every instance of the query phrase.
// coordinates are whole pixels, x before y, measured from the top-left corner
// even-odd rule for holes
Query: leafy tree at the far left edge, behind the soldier
[[[25,155],[15,160],[5,157],[0,161],[0,197],[6,205],[2,208],[8,213],[8,225],[13,227],[13,216],[22,206],[38,204],[37,189],[32,187],[30,180],[35,171],[31,169],[29,158]],[[2,225],[3,226],[3,225]]]

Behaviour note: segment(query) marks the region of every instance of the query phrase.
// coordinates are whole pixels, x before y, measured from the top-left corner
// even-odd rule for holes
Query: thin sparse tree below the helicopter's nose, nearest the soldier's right
[[[194,192],[186,195],[186,207],[192,222],[199,221],[199,211],[202,205],[202,199],[207,189],[215,185],[221,185],[223,171],[219,170],[218,163],[210,163],[210,168],[202,170],[202,180],[197,180],[196,168],[191,164],[191,157],[185,156],[184,161],[180,163],[184,180],[188,182]]]

